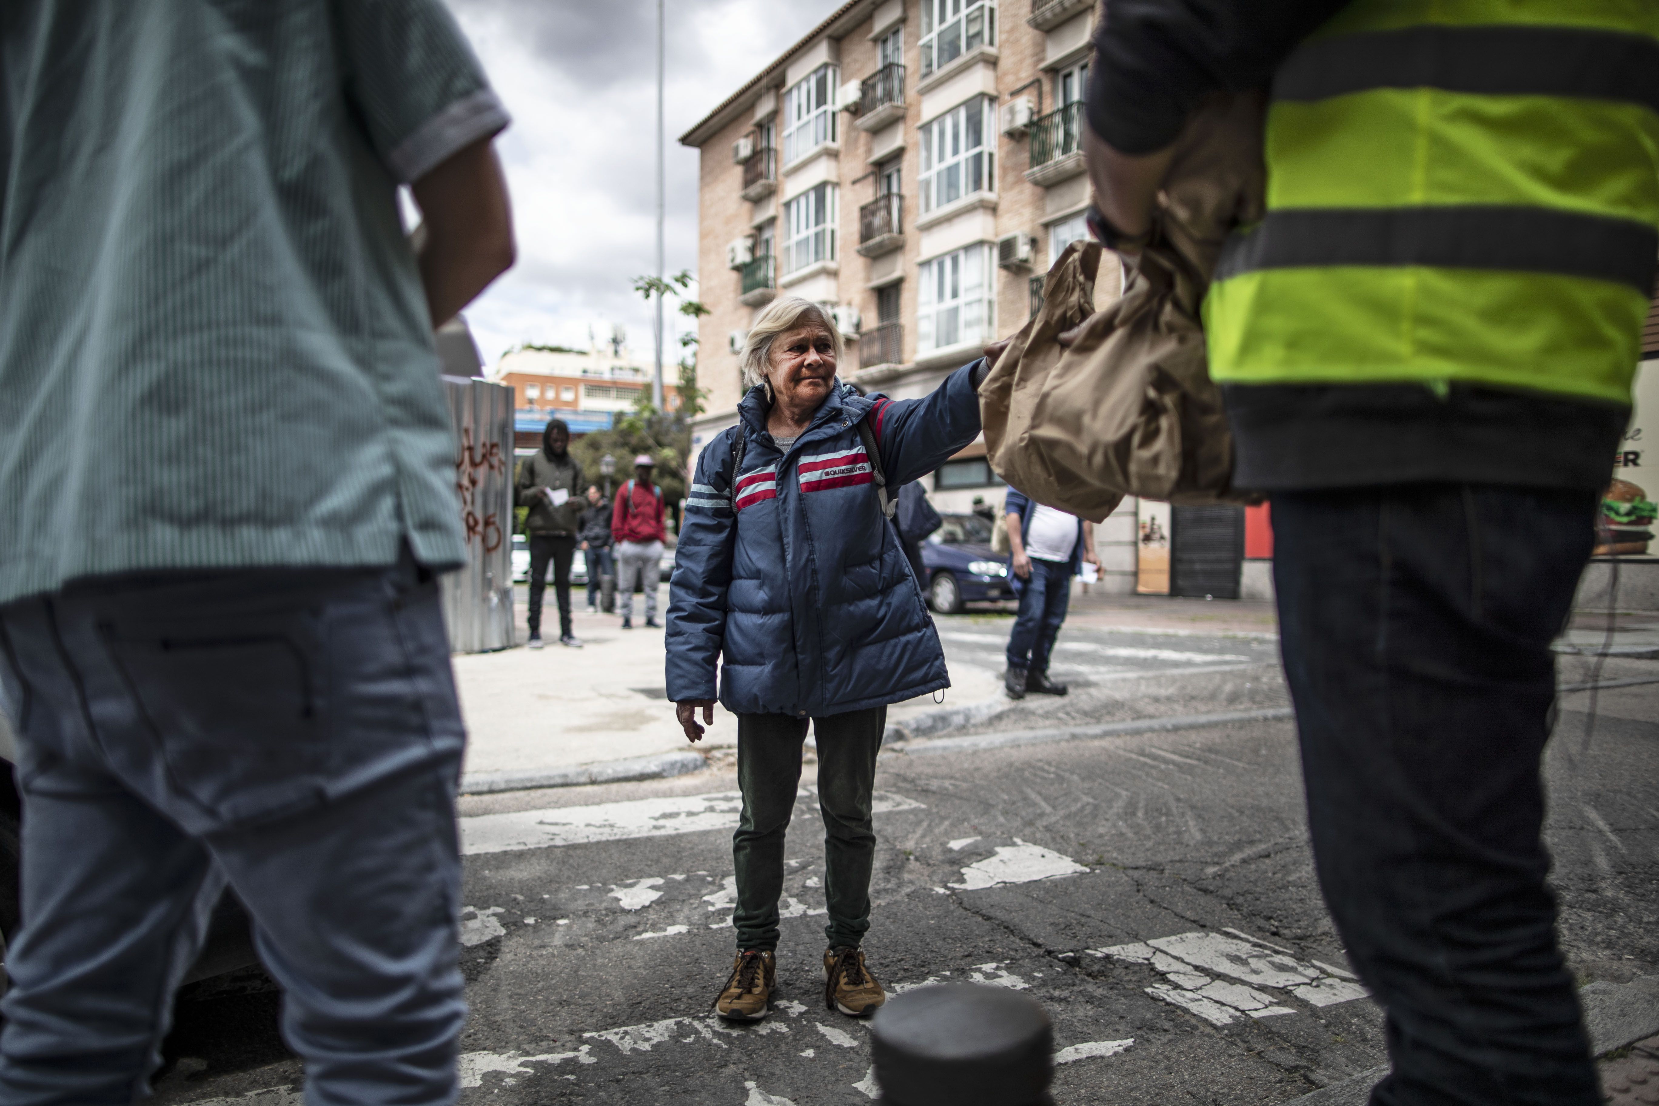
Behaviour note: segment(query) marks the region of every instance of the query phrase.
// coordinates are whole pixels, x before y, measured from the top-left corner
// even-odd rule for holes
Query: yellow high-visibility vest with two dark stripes
[[[1274,75],[1266,159],[1204,303],[1218,381],[1631,401],[1659,0],[1357,0]]]

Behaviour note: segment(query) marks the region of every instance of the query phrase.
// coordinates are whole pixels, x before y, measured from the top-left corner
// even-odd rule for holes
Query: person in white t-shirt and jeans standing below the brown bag
[[[1065,685],[1048,678],[1048,655],[1065,622],[1072,599],[1072,577],[1083,562],[1100,565],[1095,555],[1095,527],[1075,514],[1027,499],[1009,489],[1009,582],[1020,597],[1020,614],[1009,633],[1009,698],[1065,695]]]

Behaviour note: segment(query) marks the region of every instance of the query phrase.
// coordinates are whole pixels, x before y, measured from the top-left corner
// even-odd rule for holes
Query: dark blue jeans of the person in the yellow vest
[[[1387,1010],[1374,1106],[1601,1101],[1540,771],[1594,512],[1490,486],[1272,496],[1314,861]]]

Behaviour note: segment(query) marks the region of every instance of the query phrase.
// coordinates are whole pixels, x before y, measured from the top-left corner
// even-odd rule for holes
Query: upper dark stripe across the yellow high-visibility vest
[[[1274,99],[1375,88],[1584,96],[1659,111],[1659,38],[1573,27],[1410,27],[1316,38],[1272,78]]]

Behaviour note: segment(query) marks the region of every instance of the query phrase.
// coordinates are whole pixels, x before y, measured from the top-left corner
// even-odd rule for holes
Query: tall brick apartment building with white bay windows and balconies
[[[702,153],[693,448],[735,421],[738,350],[778,293],[825,303],[844,380],[922,396],[1030,317],[1085,235],[1093,0],[851,0],[680,143]],[[1102,270],[1097,297],[1118,293]],[[942,512],[1005,486],[977,441],[924,483]],[[1133,590],[1136,506],[1097,532]]]

